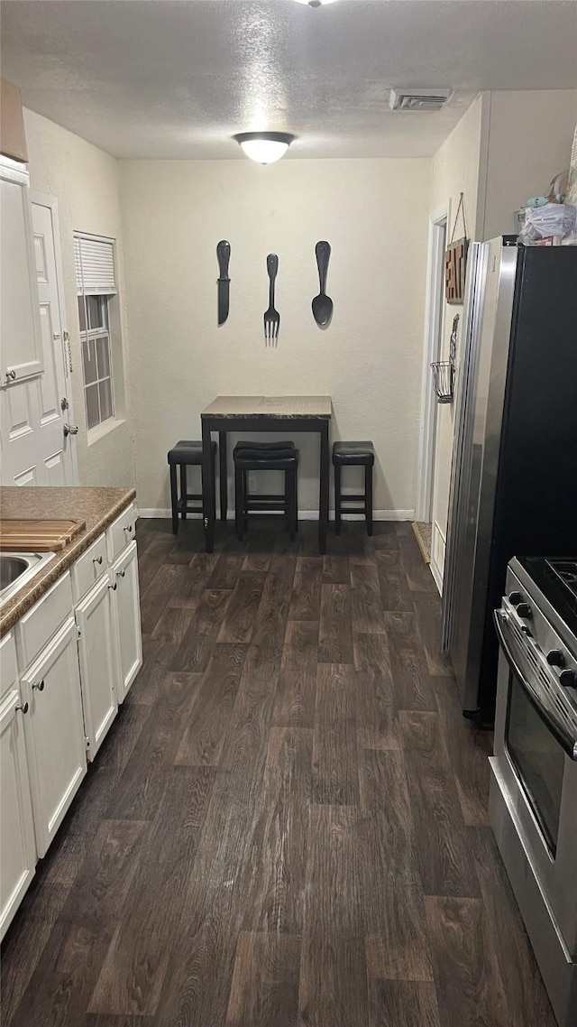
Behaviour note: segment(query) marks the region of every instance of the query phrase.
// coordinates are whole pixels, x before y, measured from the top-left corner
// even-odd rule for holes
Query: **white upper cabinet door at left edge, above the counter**
[[[0,158],[2,385],[43,370],[28,173]]]

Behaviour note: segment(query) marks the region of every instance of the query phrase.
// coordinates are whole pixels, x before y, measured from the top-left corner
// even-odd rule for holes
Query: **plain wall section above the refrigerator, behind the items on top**
[[[576,89],[492,92],[484,239],[514,231],[513,211],[569,167]]]

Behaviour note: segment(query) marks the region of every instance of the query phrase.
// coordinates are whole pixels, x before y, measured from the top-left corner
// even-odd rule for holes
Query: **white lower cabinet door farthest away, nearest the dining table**
[[[136,542],[130,542],[115,561],[110,569],[110,576],[120,660],[121,682],[118,701],[122,702],[143,663],[139,561]]]

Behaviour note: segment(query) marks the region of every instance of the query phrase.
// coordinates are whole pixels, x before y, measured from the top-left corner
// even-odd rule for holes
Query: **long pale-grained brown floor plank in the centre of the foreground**
[[[312,731],[273,727],[246,874],[246,930],[302,935]]]

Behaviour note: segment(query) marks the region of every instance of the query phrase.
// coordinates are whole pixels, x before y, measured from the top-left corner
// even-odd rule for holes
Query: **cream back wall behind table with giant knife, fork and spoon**
[[[166,451],[217,394],[332,394],[333,438],[373,439],[375,506],[415,506],[430,161],[121,161],[142,508],[168,506]],[[217,327],[216,246],[232,248]],[[333,322],[311,314],[314,245],[333,248]],[[265,348],[266,256],[279,257],[278,346]],[[286,432],[283,432],[286,434]],[[301,509],[317,442],[301,436]]]

